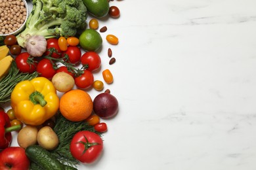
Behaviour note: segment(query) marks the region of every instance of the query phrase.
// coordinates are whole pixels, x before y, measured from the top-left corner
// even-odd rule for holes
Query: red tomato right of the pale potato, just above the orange
[[[77,88],[89,88],[93,85],[94,77],[91,71],[85,70],[80,76],[75,77],[75,85]]]

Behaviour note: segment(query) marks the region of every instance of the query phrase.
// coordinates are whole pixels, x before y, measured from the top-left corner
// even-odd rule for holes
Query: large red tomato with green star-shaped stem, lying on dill
[[[91,131],[77,132],[70,143],[72,156],[82,163],[92,163],[95,161],[102,153],[102,149],[102,139]]]

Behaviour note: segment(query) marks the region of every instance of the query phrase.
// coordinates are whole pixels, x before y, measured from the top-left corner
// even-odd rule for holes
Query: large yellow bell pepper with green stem
[[[19,82],[11,93],[11,107],[16,118],[32,126],[41,125],[54,116],[59,103],[56,88],[44,77]]]

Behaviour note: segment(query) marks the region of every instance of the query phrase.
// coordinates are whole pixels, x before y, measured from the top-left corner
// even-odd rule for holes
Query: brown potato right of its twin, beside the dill
[[[46,150],[54,150],[58,146],[58,136],[51,127],[44,126],[37,133],[37,143]]]

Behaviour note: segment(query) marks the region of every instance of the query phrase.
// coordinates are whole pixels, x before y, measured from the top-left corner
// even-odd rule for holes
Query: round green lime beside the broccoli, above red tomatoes
[[[95,29],[85,29],[79,36],[81,48],[85,51],[96,51],[102,46],[102,37]]]

